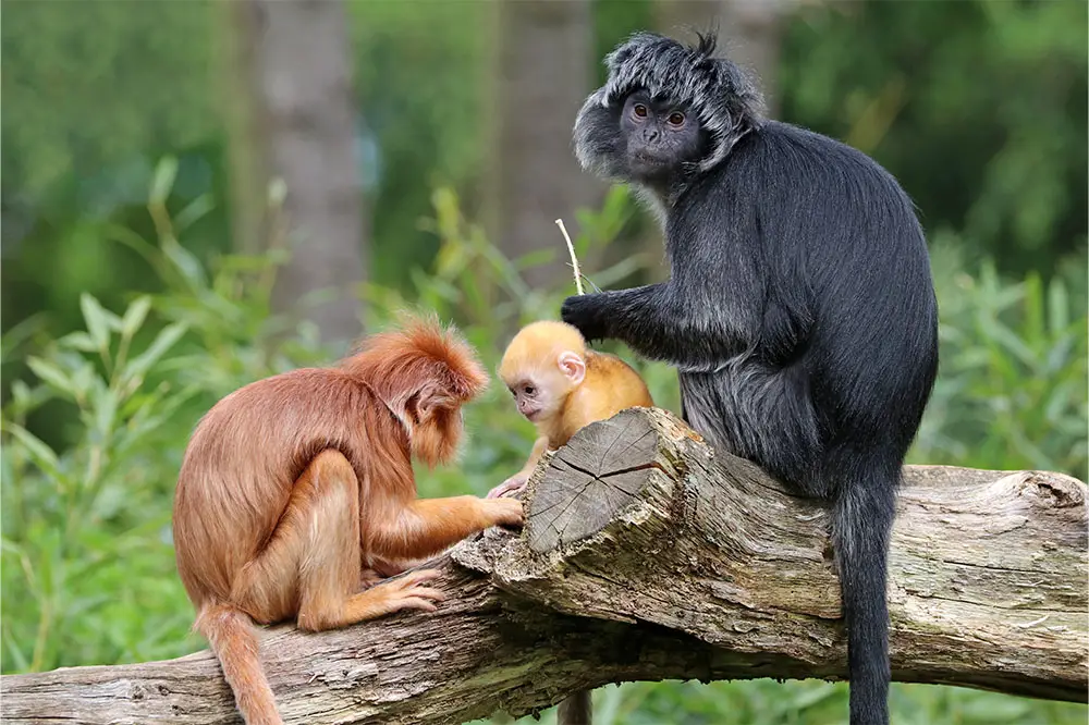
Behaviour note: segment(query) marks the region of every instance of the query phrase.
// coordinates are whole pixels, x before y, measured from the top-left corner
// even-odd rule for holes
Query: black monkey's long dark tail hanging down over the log
[[[896,472],[870,472],[841,489],[832,533],[847,625],[851,725],[889,723],[889,533]]]

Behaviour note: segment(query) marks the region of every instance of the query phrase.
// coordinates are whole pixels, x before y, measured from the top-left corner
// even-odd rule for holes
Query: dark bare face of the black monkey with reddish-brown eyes
[[[625,99],[620,131],[629,174],[651,184],[668,182],[682,163],[699,159],[707,139],[688,108],[652,99],[643,90]]]

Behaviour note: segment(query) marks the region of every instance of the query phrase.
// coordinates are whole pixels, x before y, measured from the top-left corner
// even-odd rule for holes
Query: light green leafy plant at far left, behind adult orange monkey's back
[[[5,672],[183,651],[181,591],[163,539],[170,479],[161,474],[176,458],[163,458],[173,439],[160,433],[193,391],[147,379],[185,325],[162,327],[137,352],[150,299],[121,316],[89,295],[81,303],[86,330],[29,357],[39,384],[16,382],[3,408]],[[77,410],[66,451],[24,425],[50,397]],[[151,614],[134,616],[142,611]]]

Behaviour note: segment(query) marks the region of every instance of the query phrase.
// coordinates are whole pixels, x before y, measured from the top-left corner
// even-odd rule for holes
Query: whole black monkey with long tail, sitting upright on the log
[[[568,297],[562,317],[677,368],[717,447],[832,502],[851,723],[889,722],[889,533],[938,368],[922,229],[884,169],[762,116],[714,40],[636,34],[575,122],[575,152],[664,226],[666,282]]]

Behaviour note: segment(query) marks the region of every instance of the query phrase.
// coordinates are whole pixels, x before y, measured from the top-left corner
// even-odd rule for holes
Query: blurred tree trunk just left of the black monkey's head
[[[555,220],[574,236],[575,210],[592,207],[603,192],[583,173],[571,140],[598,61],[590,3],[505,0],[499,14],[490,236],[511,259],[554,249],[554,262],[525,273],[531,286],[547,286],[570,279]]]

